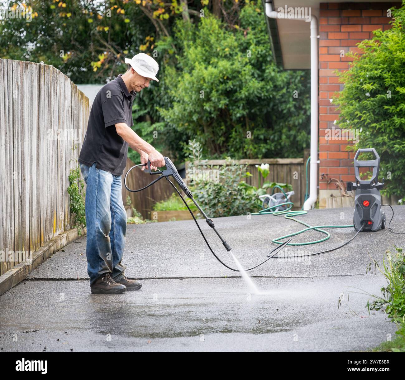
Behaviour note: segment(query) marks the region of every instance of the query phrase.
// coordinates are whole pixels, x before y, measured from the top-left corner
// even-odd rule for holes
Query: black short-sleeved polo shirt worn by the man
[[[96,95],[90,111],[87,131],[79,154],[79,162],[122,175],[127,160],[128,143],[117,133],[114,124],[133,126],[132,102],[136,92],[129,92],[119,74]]]

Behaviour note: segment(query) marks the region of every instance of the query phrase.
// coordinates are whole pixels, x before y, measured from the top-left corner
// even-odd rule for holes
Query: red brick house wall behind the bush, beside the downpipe
[[[373,36],[373,30],[387,30],[390,17],[387,9],[401,6],[400,2],[387,3],[320,3],[319,17],[319,173],[328,173],[342,181],[354,180],[354,153],[345,149],[349,141],[326,139],[327,128],[333,129],[333,122],[339,112],[332,95],[343,88],[334,70],[345,71],[352,58],[341,57],[341,50],[361,51],[356,43]],[[335,130],[337,126],[335,126]],[[351,144],[352,145],[352,144]],[[320,179],[320,190],[335,189]]]

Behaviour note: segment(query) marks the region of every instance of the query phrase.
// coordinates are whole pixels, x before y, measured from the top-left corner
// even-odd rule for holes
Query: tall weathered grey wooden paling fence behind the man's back
[[[35,251],[71,228],[68,175],[89,102],[53,66],[5,59],[0,99],[0,251],[7,257],[7,250]],[[1,260],[0,274],[18,263]]]

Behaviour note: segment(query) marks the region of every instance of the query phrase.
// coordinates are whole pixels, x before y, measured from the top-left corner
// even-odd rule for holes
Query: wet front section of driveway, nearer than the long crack
[[[5,351],[345,351],[394,335],[368,313],[379,275],[143,280],[139,291],[92,295],[86,281],[26,281],[2,296]],[[341,306],[339,297],[345,292]],[[21,313],[23,311],[23,313]],[[17,336],[17,341],[15,337]]]

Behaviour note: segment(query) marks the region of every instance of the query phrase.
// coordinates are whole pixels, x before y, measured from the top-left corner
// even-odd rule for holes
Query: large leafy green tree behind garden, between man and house
[[[302,156],[309,73],[277,68],[261,2],[246,2],[232,27],[208,11],[198,26],[178,20],[173,41],[180,53],[164,73],[171,105],[158,111],[183,141],[196,137],[211,158]]]

